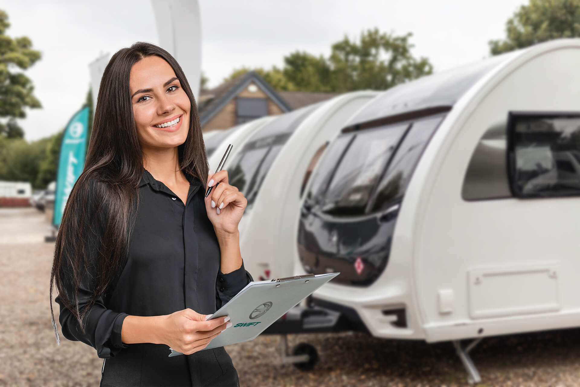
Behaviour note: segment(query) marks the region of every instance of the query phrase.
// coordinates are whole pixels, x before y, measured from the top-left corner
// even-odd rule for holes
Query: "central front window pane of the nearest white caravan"
[[[321,211],[339,216],[364,214],[372,189],[407,127],[389,125],[357,132],[333,173]]]

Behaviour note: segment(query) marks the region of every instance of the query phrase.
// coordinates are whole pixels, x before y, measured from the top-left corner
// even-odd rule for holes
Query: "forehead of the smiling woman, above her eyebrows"
[[[129,88],[131,93],[138,89],[154,88],[163,85],[168,79],[175,77],[175,71],[158,56],[149,56],[131,67],[129,75]]]

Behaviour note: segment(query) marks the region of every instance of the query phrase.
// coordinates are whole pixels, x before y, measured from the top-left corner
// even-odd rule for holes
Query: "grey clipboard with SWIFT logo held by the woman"
[[[230,316],[232,325],[202,350],[255,339],[288,310],[338,274],[340,272],[252,281],[209,318],[213,320]],[[183,355],[172,348],[169,349],[170,357]]]

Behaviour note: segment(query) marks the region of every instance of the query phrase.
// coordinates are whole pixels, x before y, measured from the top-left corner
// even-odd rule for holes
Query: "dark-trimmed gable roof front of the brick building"
[[[264,78],[260,77],[255,71],[248,71],[230,81],[224,82],[216,88],[201,91],[200,97],[197,101],[197,108],[200,114],[201,126],[204,126],[214,115],[218,114],[220,110],[231,99],[238,95],[250,82],[254,82],[266,95],[280,108],[282,111],[291,111],[292,106],[286,102],[278,93],[270,86]]]

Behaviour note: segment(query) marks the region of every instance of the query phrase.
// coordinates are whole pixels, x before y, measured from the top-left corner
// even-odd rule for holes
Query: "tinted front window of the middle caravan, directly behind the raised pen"
[[[244,149],[232,160],[230,184],[244,193],[248,205],[258,194],[260,186],[282,146],[318,104],[286,113],[259,129]]]

